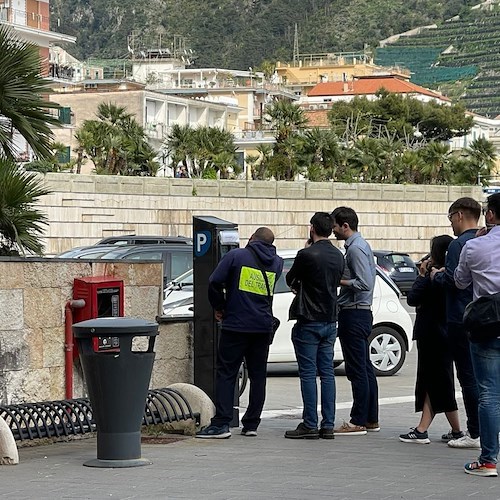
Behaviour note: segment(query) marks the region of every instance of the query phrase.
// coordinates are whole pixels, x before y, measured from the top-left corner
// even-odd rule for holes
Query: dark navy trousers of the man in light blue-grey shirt
[[[370,361],[368,337],[373,315],[367,309],[341,309],[338,337],[344,353],[345,373],[351,382],[351,423],[378,422],[378,384]]]

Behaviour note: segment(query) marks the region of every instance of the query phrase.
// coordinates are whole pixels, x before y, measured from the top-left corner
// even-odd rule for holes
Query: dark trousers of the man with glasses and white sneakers
[[[469,337],[462,323],[448,323],[447,327],[450,351],[462,388],[467,430],[471,437],[477,438],[479,437],[479,389],[472,366]]]

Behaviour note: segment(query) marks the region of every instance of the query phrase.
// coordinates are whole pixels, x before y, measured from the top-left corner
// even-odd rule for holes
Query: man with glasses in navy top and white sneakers
[[[444,269],[431,272],[431,279],[446,289],[446,322],[450,349],[457,369],[457,377],[462,388],[462,395],[467,415],[467,432],[464,435],[458,429],[451,429],[443,434],[442,440],[451,448],[479,448],[478,387],[472,359],[470,342],[463,324],[465,307],[472,302],[472,285],[463,290],[455,286],[453,278],[458,265],[460,252],[465,243],[476,236],[481,205],[473,198],[459,198],[448,209],[448,220],[453,234],[457,236],[450,243]]]

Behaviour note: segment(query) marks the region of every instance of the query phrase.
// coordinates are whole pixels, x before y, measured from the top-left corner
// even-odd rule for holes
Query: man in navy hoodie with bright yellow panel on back
[[[215,416],[208,427],[196,434],[198,438],[231,437],[234,389],[243,358],[250,379],[250,399],[241,419],[241,432],[244,436],[257,435],[273,334],[272,293],[283,270],[283,259],[276,255],[273,242],[273,232],[260,227],[247,247],[228,252],[209,278],[208,299],[222,328],[217,352]]]

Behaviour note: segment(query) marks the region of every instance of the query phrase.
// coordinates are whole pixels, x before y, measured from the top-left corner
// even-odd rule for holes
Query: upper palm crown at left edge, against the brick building
[[[52,156],[53,134],[49,125],[59,124],[48,109],[59,105],[45,101],[48,82],[40,76],[36,46],[16,37],[0,25],[0,156],[16,158],[13,142],[17,131],[38,158]]]

